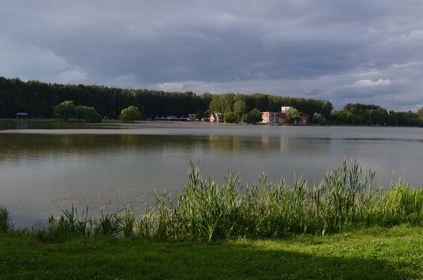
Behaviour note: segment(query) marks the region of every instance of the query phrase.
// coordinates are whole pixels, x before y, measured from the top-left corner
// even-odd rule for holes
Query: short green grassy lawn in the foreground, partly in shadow
[[[423,279],[421,227],[228,241],[0,235],[0,279]]]

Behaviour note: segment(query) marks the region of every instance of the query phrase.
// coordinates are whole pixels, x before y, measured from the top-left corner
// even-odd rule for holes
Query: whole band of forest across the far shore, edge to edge
[[[137,107],[144,118],[188,114],[207,116],[210,112],[232,112],[242,116],[253,109],[279,112],[281,106],[293,106],[302,116],[313,120],[320,114],[328,124],[351,125],[421,125],[423,109],[418,113],[395,112],[376,105],[346,104],[340,111],[332,111],[329,100],[283,97],[269,94],[242,93],[196,95],[187,92],[121,89],[103,85],[47,84],[39,81],[23,82],[19,78],[0,77],[0,118],[13,118],[18,112],[32,117],[53,117],[53,108],[63,101],[75,106],[93,107],[101,116],[116,119],[123,109]]]

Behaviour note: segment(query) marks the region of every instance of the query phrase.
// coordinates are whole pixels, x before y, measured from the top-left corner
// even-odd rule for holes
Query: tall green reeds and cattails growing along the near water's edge
[[[232,171],[220,187],[211,178],[203,180],[192,161],[188,174],[183,190],[174,196],[156,193],[154,205],[146,203],[138,218],[132,205],[110,212],[109,202],[99,219],[88,217],[88,209],[78,217],[72,205],[58,220],[50,217],[36,236],[50,242],[97,236],[225,240],[422,225],[421,188],[411,189],[401,180],[387,187],[374,184],[375,171],[363,171],[357,161],[346,158],[342,166],[328,168],[317,185],[295,174],[292,185],[284,178],[269,182],[263,173],[258,184],[244,186],[239,171]]]

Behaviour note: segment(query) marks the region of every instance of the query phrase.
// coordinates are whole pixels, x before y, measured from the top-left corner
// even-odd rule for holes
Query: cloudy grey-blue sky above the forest
[[[14,0],[0,76],[423,107],[421,0]]]

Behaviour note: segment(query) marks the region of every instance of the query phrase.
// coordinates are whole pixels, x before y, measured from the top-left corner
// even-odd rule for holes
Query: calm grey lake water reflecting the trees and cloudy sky
[[[71,204],[89,215],[107,203],[112,211],[129,203],[141,209],[154,189],[183,188],[189,159],[220,185],[233,169],[243,185],[258,183],[263,171],[287,182],[295,171],[317,184],[344,155],[376,168],[386,185],[393,171],[394,182],[422,185],[421,128],[19,123],[0,124],[0,204],[15,226],[31,226]]]

